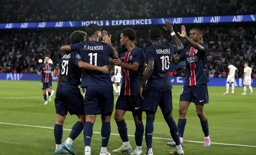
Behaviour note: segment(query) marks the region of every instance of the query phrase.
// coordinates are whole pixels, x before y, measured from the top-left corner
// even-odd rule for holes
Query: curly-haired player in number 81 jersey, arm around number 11
[[[71,43],[83,42],[85,41],[85,36],[85,32],[74,31],[70,36]],[[54,126],[56,143],[55,154],[69,152],[72,155],[76,155],[72,144],[82,132],[85,122],[83,96],[78,88],[81,84],[81,68],[84,70],[97,70],[102,73],[108,73],[108,66],[98,67],[80,60],[78,62],[76,58],[81,58],[78,51],[72,53],[66,52],[60,59],[60,69],[58,69],[57,75],[58,87],[55,98],[55,108],[57,113],[56,124]],[[61,144],[63,124],[68,112],[70,115],[77,115],[78,121],[72,127],[68,139]]]

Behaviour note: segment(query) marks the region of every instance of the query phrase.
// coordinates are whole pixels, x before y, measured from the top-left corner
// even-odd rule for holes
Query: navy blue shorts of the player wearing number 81
[[[60,83],[55,95],[56,113],[66,115],[84,115],[83,95],[80,88],[67,83]]]

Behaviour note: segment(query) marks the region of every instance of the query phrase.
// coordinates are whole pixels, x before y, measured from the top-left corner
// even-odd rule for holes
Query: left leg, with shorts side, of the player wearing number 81
[[[61,86],[59,85],[59,87]],[[68,111],[64,104],[64,100],[62,99],[62,93],[60,92],[60,89],[56,93],[56,98],[54,100],[54,103],[55,103],[55,109],[57,113],[56,123],[54,125],[54,138],[55,138],[55,144],[56,144],[56,149],[54,153],[55,154],[68,153],[68,151],[62,149],[62,146],[61,146],[62,135],[63,135],[63,124],[66,119],[66,115]]]

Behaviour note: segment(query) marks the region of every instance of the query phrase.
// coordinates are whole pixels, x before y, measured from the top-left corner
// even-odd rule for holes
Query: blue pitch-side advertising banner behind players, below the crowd
[[[0,74],[0,79],[2,80],[32,80],[32,81],[41,81],[41,76],[37,74],[16,74],[16,73],[2,73]],[[57,75],[55,75],[54,80],[56,81]],[[111,79],[114,79],[114,76],[111,76]],[[173,77],[170,76],[170,79],[173,85],[183,85],[185,81],[185,77]],[[225,86],[226,78],[209,78],[209,86]],[[122,83],[122,78],[120,80]],[[243,87],[243,79],[235,78],[235,87]],[[252,87],[256,87],[256,79],[252,79]]]

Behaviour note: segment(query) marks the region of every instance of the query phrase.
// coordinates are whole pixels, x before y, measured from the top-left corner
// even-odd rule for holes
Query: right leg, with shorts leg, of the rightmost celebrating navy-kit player
[[[193,86],[192,92],[193,92],[193,100],[196,105],[196,112],[198,117],[200,118],[200,123],[202,126],[202,130],[204,132],[204,139],[205,139],[204,147],[209,147],[211,146],[211,140],[209,136],[209,125],[208,125],[208,119],[204,114],[204,104],[209,103],[207,84]]]

